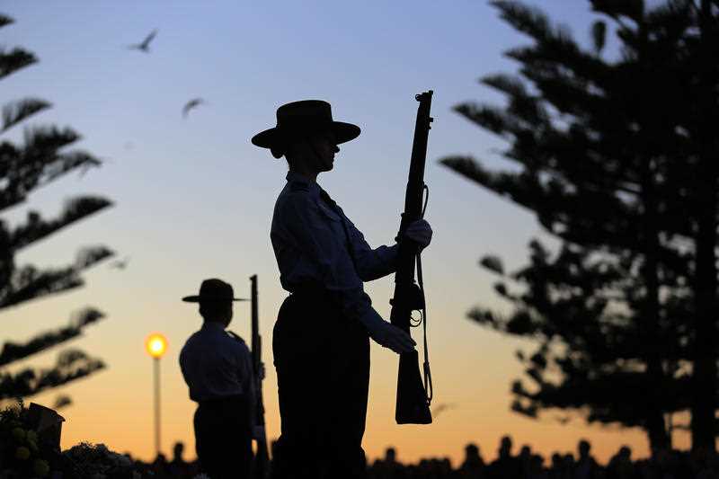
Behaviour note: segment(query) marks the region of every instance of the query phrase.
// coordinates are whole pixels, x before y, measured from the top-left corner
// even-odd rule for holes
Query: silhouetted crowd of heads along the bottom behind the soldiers
[[[275,446],[275,444],[272,444]],[[272,448],[273,453],[276,448]],[[591,454],[590,442],[581,439],[576,454],[555,452],[543,457],[528,445],[512,454],[513,441],[504,436],[492,461],[485,461],[480,448],[467,444],[461,463],[453,466],[448,457],[421,459],[404,464],[395,448],[385,456],[368,461],[367,479],[713,479],[719,478],[719,458],[699,451],[668,449],[644,459],[632,458],[632,449],[621,446],[607,464],[599,464]],[[185,461],[184,445],[175,443],[173,458],[160,454],[149,464],[135,461],[139,470],[158,479],[191,479],[200,475],[197,461]],[[317,451],[322,455],[322,451]],[[272,475],[270,474],[272,477]]]

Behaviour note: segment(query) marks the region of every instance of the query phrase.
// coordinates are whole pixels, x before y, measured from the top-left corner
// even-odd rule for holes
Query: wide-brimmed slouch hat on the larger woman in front
[[[334,121],[330,103],[322,100],[301,100],[280,106],[277,109],[277,126],[258,133],[252,142],[255,146],[270,148],[272,155],[280,158],[285,154],[288,140],[325,129],[334,133],[338,145],[359,137],[360,132],[357,125]]]

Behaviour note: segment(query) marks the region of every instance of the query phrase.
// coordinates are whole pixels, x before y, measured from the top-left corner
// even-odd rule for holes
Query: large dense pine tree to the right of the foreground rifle
[[[714,331],[694,325],[706,317],[695,314],[703,201],[693,185],[702,144],[695,140],[706,129],[697,128],[700,102],[690,93],[701,50],[697,6],[590,4],[604,20],[592,26],[594,48],[585,51],[537,9],[493,2],[534,44],[507,53],[520,76],[482,80],[507,95],[506,108],[464,103],[457,111],[505,138],[504,156],[521,171],[489,171],[471,157],[442,163],[534,211],[562,242],[555,258],[533,242],[530,265],[505,276],[523,294],[497,286],[516,306],[510,317],[482,308],[470,314],[539,342],[530,358],[520,357],[534,390],[515,382],[514,409],[586,411],[589,421],[641,426],[653,449],[666,448],[663,414],[687,409],[692,397],[715,397],[711,381],[699,390],[689,379],[692,363],[716,356]],[[614,60],[602,55],[606,20],[621,43]],[[497,258],[483,263],[504,275]],[[706,337],[696,341],[697,333]],[[697,358],[702,341],[711,343]]]

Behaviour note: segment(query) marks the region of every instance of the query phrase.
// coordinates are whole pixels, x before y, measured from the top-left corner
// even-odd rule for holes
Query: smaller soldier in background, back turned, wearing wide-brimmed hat
[[[180,367],[199,404],[193,422],[200,469],[212,479],[248,477],[252,463],[252,358],[244,341],[225,331],[240,300],[220,279],[205,279],[199,295],[182,298],[200,303],[204,320],[182,347]]]

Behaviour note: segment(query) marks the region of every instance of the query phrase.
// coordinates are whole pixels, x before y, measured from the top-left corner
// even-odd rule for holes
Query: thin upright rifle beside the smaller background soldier
[[[254,372],[254,390],[257,397],[257,404],[255,410],[255,421],[256,426],[262,427],[262,438],[256,439],[257,451],[254,455],[254,468],[253,475],[258,479],[264,479],[267,477],[268,464],[270,462],[270,455],[267,452],[267,439],[264,439],[264,404],[262,402],[262,379],[263,379],[263,365],[262,365],[262,336],[260,336],[260,320],[257,308],[257,275],[253,274],[250,277],[252,284],[251,293],[251,307],[252,307],[252,354],[253,354],[253,372]]]

